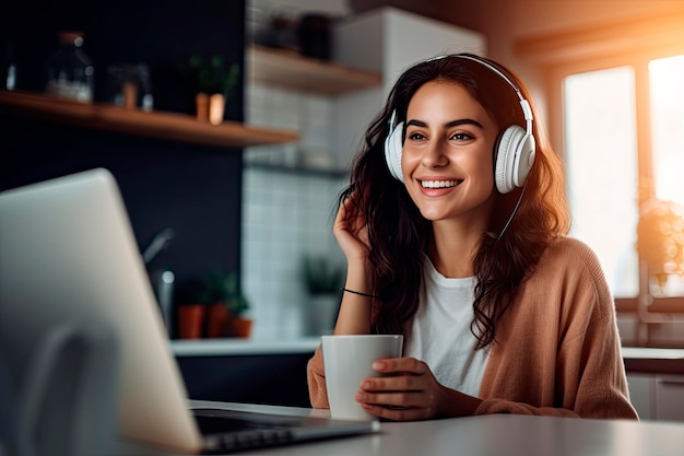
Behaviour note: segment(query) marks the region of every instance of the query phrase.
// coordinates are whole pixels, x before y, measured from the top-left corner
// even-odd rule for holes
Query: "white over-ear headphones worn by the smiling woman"
[[[516,187],[522,187],[528,175],[530,174],[535,154],[535,142],[534,136],[532,135],[532,108],[530,107],[530,104],[522,96],[520,89],[514,84],[512,81],[506,77],[506,74],[488,61],[465,54],[455,54],[438,58],[447,57],[468,59],[481,63],[502,77],[504,81],[506,81],[508,85],[516,91],[516,94],[520,100],[520,106],[522,107],[526,128],[522,129],[522,127],[518,125],[511,125],[506,128],[504,133],[499,137],[496,143],[497,145],[495,147],[496,166],[494,171],[494,180],[496,183],[496,189],[502,194],[507,194]],[[403,173],[401,171],[403,122],[394,125],[396,121],[397,112],[394,110],[392,112],[389,120],[390,132],[385,139],[385,160],[387,161],[387,166],[391,175],[403,183]]]

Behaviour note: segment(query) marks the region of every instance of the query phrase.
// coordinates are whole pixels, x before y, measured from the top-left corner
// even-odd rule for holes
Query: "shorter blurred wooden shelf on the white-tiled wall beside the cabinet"
[[[298,92],[340,95],[382,83],[381,74],[303,57],[292,50],[251,45],[246,60],[249,81]]]

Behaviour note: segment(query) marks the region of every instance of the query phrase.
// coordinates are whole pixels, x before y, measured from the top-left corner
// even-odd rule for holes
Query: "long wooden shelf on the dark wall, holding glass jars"
[[[298,141],[294,131],[248,127],[239,122],[221,125],[198,121],[177,113],[143,112],[109,104],[83,104],[52,96],[0,91],[0,109],[25,117],[226,149]]]

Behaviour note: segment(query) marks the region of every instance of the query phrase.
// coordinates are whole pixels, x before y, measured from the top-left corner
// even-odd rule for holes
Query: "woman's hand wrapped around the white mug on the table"
[[[382,377],[365,378],[356,401],[369,413],[393,421],[473,414],[481,400],[449,389],[415,358],[378,360],[373,369]]]

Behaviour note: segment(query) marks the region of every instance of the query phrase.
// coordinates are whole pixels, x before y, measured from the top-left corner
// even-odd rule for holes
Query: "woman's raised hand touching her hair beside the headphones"
[[[344,198],[332,226],[334,235],[347,262],[355,259],[365,260],[370,250],[368,230],[362,208],[358,206],[358,194],[353,192]]]

